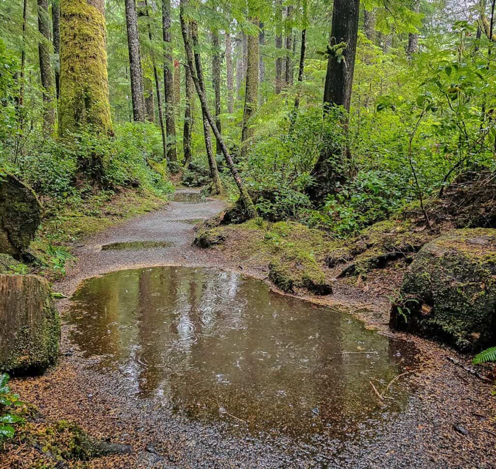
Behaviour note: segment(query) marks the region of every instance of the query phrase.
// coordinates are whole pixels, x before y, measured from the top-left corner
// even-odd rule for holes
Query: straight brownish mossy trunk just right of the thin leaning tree
[[[250,18],[250,22],[258,26],[258,18]],[[241,130],[241,156],[246,158],[248,154],[249,141],[253,135],[251,118],[256,112],[258,100],[258,34],[248,36],[247,75],[245,90],[245,108],[243,111],[243,123]]]

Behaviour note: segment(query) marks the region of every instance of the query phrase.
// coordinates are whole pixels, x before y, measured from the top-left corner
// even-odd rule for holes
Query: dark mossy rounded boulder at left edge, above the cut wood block
[[[18,257],[40,225],[35,193],[10,174],[0,173],[0,252]]]

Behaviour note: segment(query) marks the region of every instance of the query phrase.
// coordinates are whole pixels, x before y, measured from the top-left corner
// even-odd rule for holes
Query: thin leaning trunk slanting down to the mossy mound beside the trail
[[[238,169],[234,165],[233,158],[231,157],[224,141],[222,140],[222,136],[220,135],[220,132],[217,129],[217,126],[215,125],[215,122],[214,122],[214,120],[210,114],[210,111],[208,110],[207,100],[206,100],[205,94],[203,93],[203,87],[200,83],[200,80],[193,72],[193,70],[194,70],[193,52],[192,52],[192,48],[191,48],[191,43],[190,43],[188,35],[187,35],[186,22],[185,22],[185,17],[184,17],[185,16],[185,3],[186,3],[186,0],[180,0],[181,32],[183,34],[183,41],[185,44],[187,65],[189,67],[189,70],[191,71],[191,78],[193,79],[194,86],[196,88],[196,93],[198,94],[198,97],[200,99],[201,109],[202,109],[203,114],[206,116],[208,123],[210,124],[210,127],[212,128],[212,131],[215,135],[215,138],[220,142],[222,154],[224,155],[224,158],[226,159],[227,165],[229,166],[229,169],[231,170],[231,173],[232,173],[233,178],[236,182],[236,185],[238,186],[238,189],[240,191],[240,199],[242,200],[242,202],[245,205],[245,208],[248,212],[248,216],[251,218],[255,218],[255,217],[257,217],[257,212],[255,209],[255,206],[253,205],[253,201],[251,200],[251,197],[248,194],[248,191],[245,187],[245,184],[243,183],[243,180],[241,179],[241,176],[238,173]]]

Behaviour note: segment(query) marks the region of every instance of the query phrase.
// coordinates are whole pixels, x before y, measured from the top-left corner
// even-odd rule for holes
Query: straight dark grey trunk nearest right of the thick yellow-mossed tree
[[[138,17],[134,0],[124,0],[125,25],[127,31],[127,48],[129,51],[129,77],[131,80],[132,115],[137,122],[146,119],[143,97],[143,72],[139,52]]]

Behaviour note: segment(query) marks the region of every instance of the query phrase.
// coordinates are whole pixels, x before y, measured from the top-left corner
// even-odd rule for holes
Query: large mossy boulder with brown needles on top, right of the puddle
[[[454,230],[419,251],[390,326],[477,351],[496,343],[495,309],[496,230]]]

